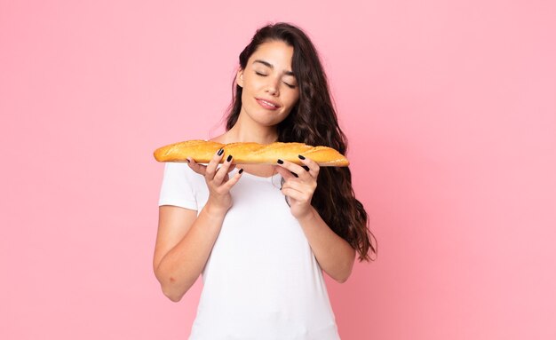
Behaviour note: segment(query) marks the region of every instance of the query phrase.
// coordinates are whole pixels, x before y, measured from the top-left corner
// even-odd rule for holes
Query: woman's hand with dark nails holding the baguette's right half
[[[278,160],[279,166],[276,168],[280,175],[282,175],[282,178],[285,179],[285,183],[282,186],[282,194],[288,197],[291,214],[298,219],[306,217],[311,213],[313,208],[311,206],[311,199],[313,198],[319,170],[321,169],[317,162],[301,157],[299,159],[305,164],[304,166]]]

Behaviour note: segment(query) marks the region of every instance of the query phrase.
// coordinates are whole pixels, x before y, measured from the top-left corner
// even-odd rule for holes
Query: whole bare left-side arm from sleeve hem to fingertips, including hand
[[[171,301],[178,302],[203,271],[226,212],[232,207],[229,191],[242,171],[229,178],[227,172],[235,166],[232,157],[217,170],[221,157],[218,152],[207,166],[189,162],[192,170],[204,176],[210,192],[198,217],[196,210],[171,205],[159,208],[153,267],[164,295]]]

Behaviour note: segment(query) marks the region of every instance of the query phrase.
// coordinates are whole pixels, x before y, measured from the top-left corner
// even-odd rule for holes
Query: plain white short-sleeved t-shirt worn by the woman
[[[232,177],[240,166],[232,170]],[[337,340],[322,269],[280,190],[281,175],[242,173],[207,264],[189,340]],[[209,190],[167,162],[159,205],[203,209]]]

